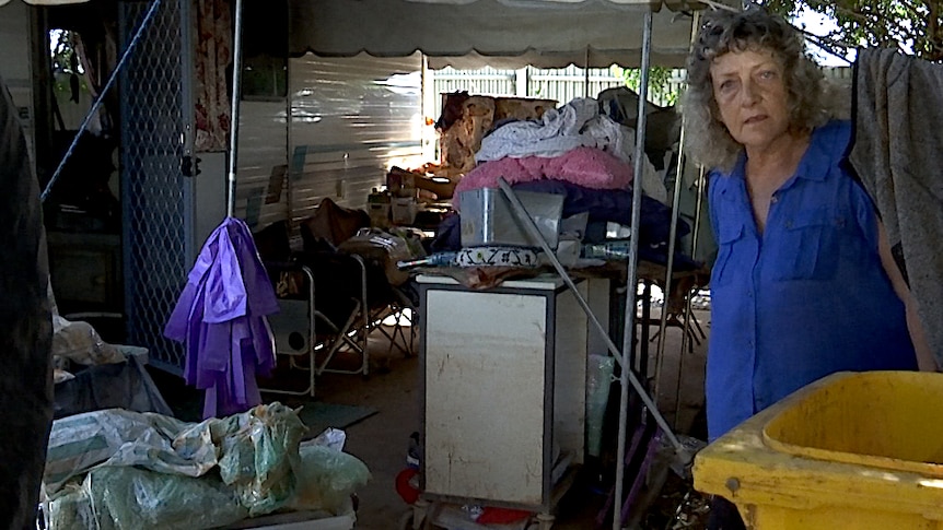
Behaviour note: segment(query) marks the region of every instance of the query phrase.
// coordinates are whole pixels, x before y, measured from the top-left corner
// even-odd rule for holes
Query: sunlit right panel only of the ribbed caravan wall
[[[331,59],[289,66],[291,213],[325,197],[364,208],[392,164],[421,162],[421,57]]]

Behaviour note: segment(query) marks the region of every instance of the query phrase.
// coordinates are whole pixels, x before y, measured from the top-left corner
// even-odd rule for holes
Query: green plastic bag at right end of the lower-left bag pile
[[[298,510],[347,511],[350,495],[370,480],[370,470],[352,455],[317,444],[299,448],[298,491],[290,506]]]

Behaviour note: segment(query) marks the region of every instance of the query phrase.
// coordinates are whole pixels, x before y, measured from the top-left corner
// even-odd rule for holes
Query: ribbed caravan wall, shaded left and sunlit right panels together
[[[264,227],[301,221],[324,198],[364,209],[389,165],[424,162],[420,71],[418,54],[290,59],[287,130],[286,102],[242,104],[236,215]]]

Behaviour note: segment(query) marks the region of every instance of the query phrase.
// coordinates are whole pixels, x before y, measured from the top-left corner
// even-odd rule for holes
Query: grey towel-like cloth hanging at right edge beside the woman
[[[903,251],[930,350],[943,366],[943,66],[863,49],[854,68],[851,163],[890,245]]]

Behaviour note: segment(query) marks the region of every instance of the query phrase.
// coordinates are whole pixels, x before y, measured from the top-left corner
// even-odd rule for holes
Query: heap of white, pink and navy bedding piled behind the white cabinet
[[[666,139],[676,136],[674,111],[655,109],[659,110],[665,110],[657,113],[660,116],[670,118],[664,122],[667,131],[662,136]],[[498,188],[500,179],[515,191],[563,196],[563,219],[580,214],[587,217],[585,231],[580,235],[583,244],[605,242],[610,223],[630,226],[632,187],[640,186],[643,196],[639,257],[664,264],[673,217],[666,205],[666,164],[660,160],[663,169],[655,169],[650,160],[652,151],[647,149],[648,155],[640,164],[641,175],[633,175],[636,132],[610,116],[629,121],[630,114],[618,97],[608,94],[599,101],[575,98],[560,108],[547,110],[538,120],[496,122],[475,154],[476,166],[455,188],[452,201],[458,215],[443,221],[432,250],[462,248],[463,192]],[[670,155],[671,145],[657,153],[662,157],[666,153]],[[679,221],[676,237],[689,232],[688,224]],[[675,263],[680,268],[698,267],[694,260],[679,256]]]

